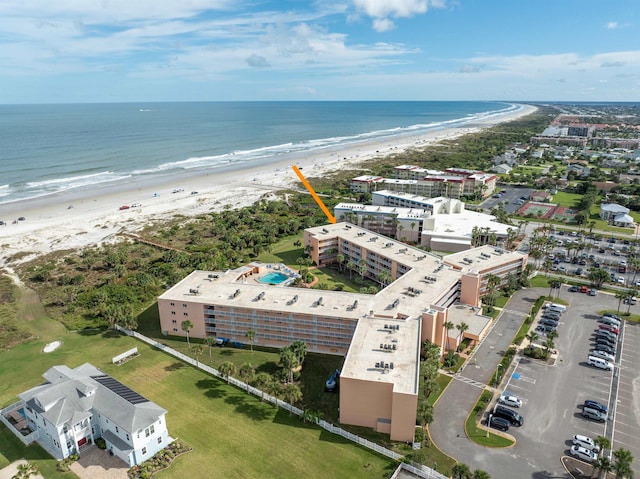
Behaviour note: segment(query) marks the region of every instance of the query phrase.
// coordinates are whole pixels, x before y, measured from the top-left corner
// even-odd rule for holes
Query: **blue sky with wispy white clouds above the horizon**
[[[638,0],[3,0],[0,103],[640,101]]]

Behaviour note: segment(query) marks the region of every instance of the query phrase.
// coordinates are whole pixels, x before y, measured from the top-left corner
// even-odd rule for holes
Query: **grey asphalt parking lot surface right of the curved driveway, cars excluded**
[[[613,437],[614,449],[624,447],[635,458],[640,458],[640,398],[633,393],[633,382],[640,380],[640,372],[634,367],[640,361],[640,327],[634,324],[624,328],[615,363],[620,367],[613,373],[590,367],[587,356],[593,348],[594,331],[600,324],[595,313],[605,308],[615,309],[618,300],[608,294],[592,297],[569,293],[566,287],[562,288],[560,297],[571,306],[558,325],[559,336],[555,341],[558,360],[549,365],[526,357],[516,359],[504,389],[523,402],[518,412],[524,416],[524,426],[509,429],[517,440],[514,448],[517,455],[529,464],[546,467],[542,470],[550,474],[564,477],[559,461],[550,462],[549,458],[568,455],[574,434]],[[544,340],[544,335],[540,336],[539,343]],[[611,401],[612,397],[617,401]],[[615,413],[615,422],[610,419],[600,423],[583,418],[582,404],[587,399],[609,406],[610,412]],[[640,461],[636,460],[633,466],[639,474]]]

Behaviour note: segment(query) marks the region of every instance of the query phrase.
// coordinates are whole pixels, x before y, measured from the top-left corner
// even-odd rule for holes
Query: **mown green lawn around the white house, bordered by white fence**
[[[23,304],[22,314],[31,318],[28,326],[39,337],[0,352],[3,379],[0,404],[14,402],[18,393],[41,383],[41,375],[50,366],[75,367],[91,362],[165,407],[169,411],[169,433],[194,448],[168,471],[158,474],[158,478],[383,478],[394,468],[386,458],[303,424],[296,416],[289,416],[143,343],[112,332],[68,333],[46,317],[34,298],[27,296]],[[52,353],[42,353],[44,345],[54,340],[62,341],[62,346]],[[138,347],[140,356],[121,366],[111,364],[113,356],[133,346]],[[232,354],[225,355],[225,360],[240,362],[244,362],[244,358],[237,356],[241,353],[273,355],[229,348],[213,351],[221,355],[230,351]],[[206,351],[205,356],[208,357]],[[40,448],[25,448],[7,434],[6,429],[0,428],[0,466],[26,457],[38,464],[47,478],[74,477],[57,473],[55,461]]]

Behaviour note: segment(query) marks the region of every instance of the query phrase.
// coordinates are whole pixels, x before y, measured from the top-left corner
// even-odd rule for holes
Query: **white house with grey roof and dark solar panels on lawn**
[[[19,398],[36,441],[56,459],[101,437],[132,467],[168,445],[167,411],[95,366],[54,366],[43,377]]]

